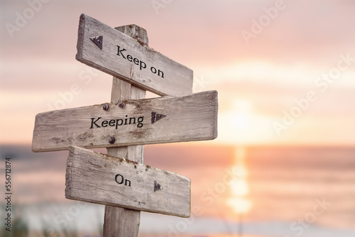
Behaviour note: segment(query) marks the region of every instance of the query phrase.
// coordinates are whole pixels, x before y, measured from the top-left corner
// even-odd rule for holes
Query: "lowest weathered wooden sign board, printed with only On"
[[[173,216],[190,216],[191,180],[131,160],[70,147],[65,197]]]

